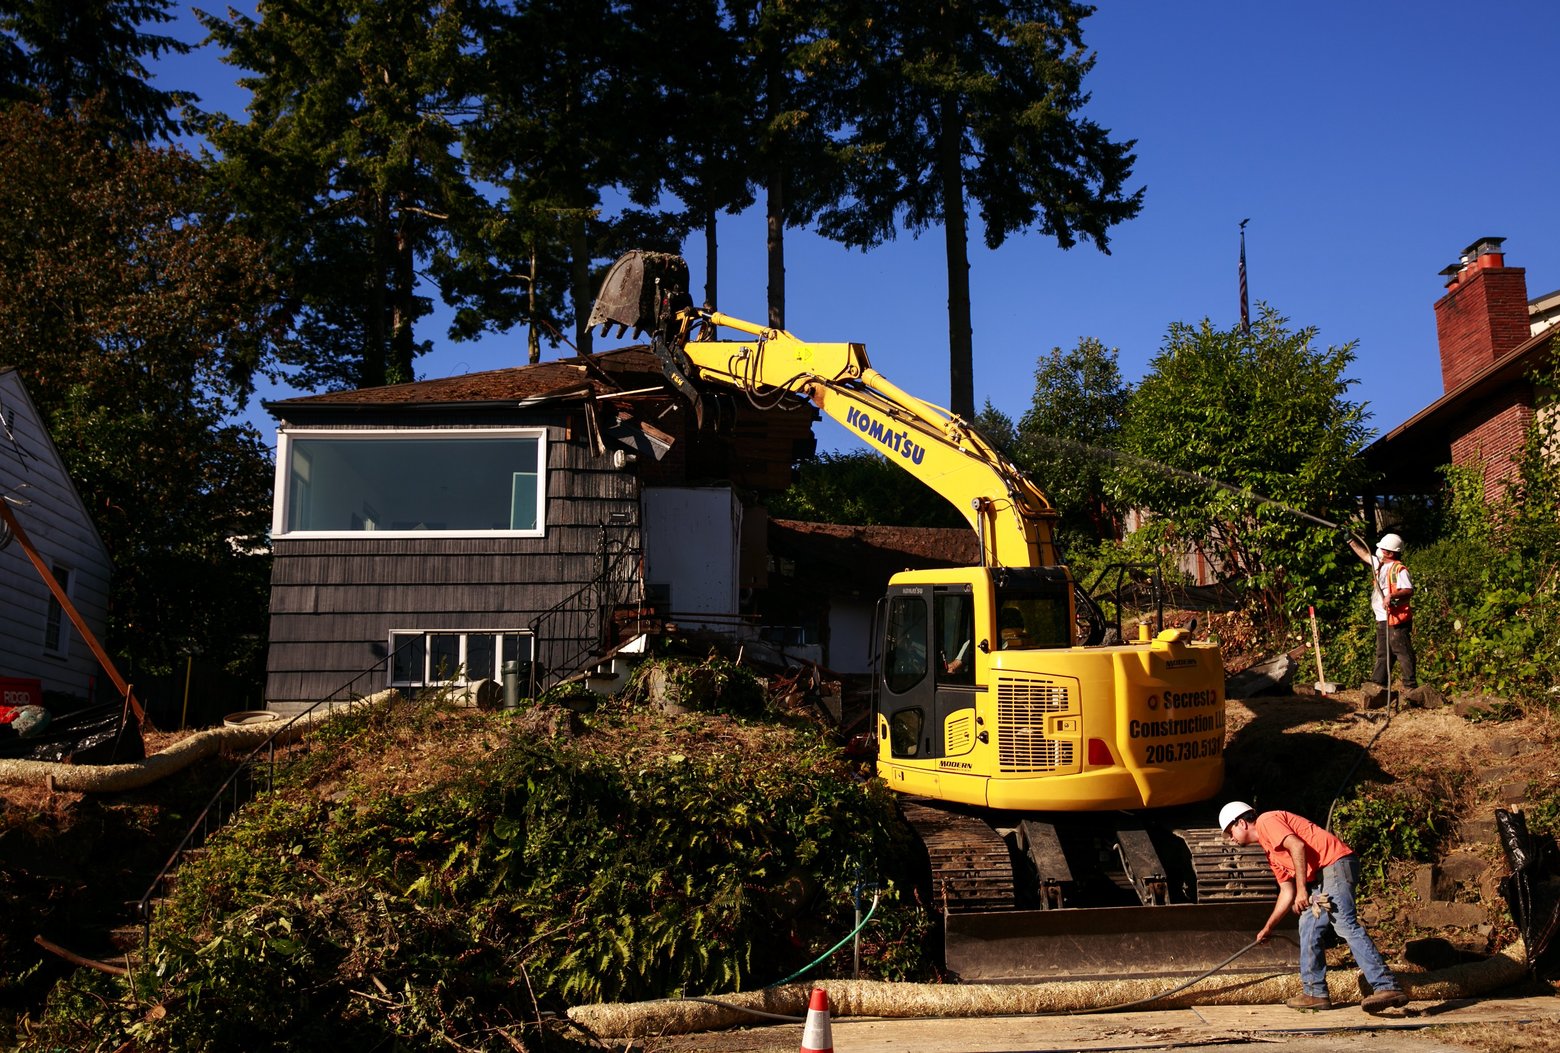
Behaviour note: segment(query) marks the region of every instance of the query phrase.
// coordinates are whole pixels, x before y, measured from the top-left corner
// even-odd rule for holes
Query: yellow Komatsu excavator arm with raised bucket
[[[602,281],[590,326],[647,332],[668,379],[702,413],[700,385],[774,407],[807,399],[911,473],[969,521],[984,566],[1055,566],[1056,510],[967,421],[899,388],[860,343],[811,343],[783,329],[694,307],[680,256],[633,251]],[[718,329],[746,334],[716,340]]]

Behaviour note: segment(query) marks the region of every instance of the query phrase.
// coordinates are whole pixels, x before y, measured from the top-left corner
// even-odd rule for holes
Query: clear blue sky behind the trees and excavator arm
[[[193,20],[173,31],[198,39]],[[1253,312],[1262,300],[1315,326],[1318,345],[1356,342],[1351,396],[1376,431],[1441,395],[1437,271],[1463,246],[1505,237],[1529,298],[1560,289],[1552,0],[1104,0],[1084,41],[1098,53],[1086,114],[1137,140],[1143,211],[1115,228],[1109,256],[1041,234],[997,251],[972,243],[977,406],[1022,415],[1037,357],[1081,337],[1117,348],[1136,382],[1172,321],[1234,324],[1243,218]],[[161,70],[162,86],[207,108],[243,106],[239,72],[209,50]],[[763,212],[722,217],[719,234],[719,307],[763,320]],[[697,239],[686,256],[702,289]],[[418,360],[420,379],[524,362],[523,332],[456,343],[424,324],[437,349]],[[863,342],[878,371],[945,404],[941,228],[870,253],[789,231],[786,324]],[[273,432],[259,406],[248,417]],[[817,437],[825,449],[855,441],[827,421]]]

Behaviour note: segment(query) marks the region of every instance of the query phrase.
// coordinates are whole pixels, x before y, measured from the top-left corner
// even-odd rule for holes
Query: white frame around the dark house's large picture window
[[[287,523],[298,495],[293,490],[293,443],[298,440],[421,440],[460,441],[491,438],[530,438],[537,443],[537,526],[510,530],[474,527],[445,530],[289,530]],[[310,471],[312,474],[312,471]],[[513,485],[513,474],[510,485]],[[519,473],[524,474],[524,473]],[[409,538],[540,538],[548,532],[548,429],[546,427],[282,427],[276,434],[276,501],[271,510],[271,537],[290,540],[409,540]],[[510,493],[513,505],[513,491]],[[356,518],[356,515],[354,515]]]

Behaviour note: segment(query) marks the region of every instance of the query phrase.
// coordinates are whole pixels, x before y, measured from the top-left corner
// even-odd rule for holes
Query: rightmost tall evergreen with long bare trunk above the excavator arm
[[[970,204],[987,248],[1039,229],[1062,248],[1108,248],[1137,215],[1128,192],[1133,142],[1078,111],[1094,56],[1072,0],[866,0],[842,20],[835,83],[849,128],[849,193],[819,229],[858,248],[942,223],[948,271],[950,407],[975,412],[970,328]]]

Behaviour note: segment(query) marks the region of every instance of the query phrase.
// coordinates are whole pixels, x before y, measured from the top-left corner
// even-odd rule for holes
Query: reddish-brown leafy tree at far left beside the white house
[[[89,103],[0,108],[0,362],[48,423],[114,562],[109,646],[140,672],[264,649],[270,457],[228,423],[276,290],[176,148],[109,147]],[[234,541],[240,541],[236,548]]]

